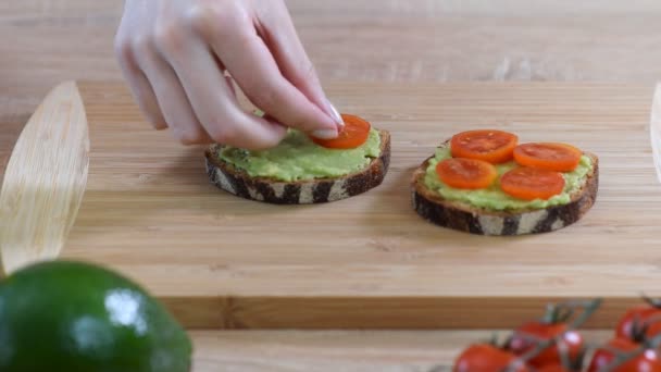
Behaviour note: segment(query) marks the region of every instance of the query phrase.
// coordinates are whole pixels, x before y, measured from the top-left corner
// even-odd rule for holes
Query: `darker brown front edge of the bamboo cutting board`
[[[484,330],[538,319],[553,297],[164,297],[189,330]],[[488,306],[487,306],[488,303]],[[585,328],[612,328],[635,297],[604,298]]]

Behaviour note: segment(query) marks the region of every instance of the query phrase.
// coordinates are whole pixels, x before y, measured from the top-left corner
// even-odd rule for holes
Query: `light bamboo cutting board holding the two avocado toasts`
[[[648,137],[652,86],[332,84],[341,111],[392,134],[385,183],[330,204],[282,207],[209,184],[201,148],[141,119],[119,83],[80,83],[88,188],[68,259],[139,281],[188,327],[509,327],[547,301],[602,296],[613,325],[638,295],[661,296],[661,185]],[[579,223],[478,237],[423,221],[411,173],[453,133],[497,127],[569,141],[601,160]]]

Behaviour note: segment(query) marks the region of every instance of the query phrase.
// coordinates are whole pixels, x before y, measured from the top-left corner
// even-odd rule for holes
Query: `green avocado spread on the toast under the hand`
[[[362,146],[348,150],[321,147],[304,133],[290,128],[285,139],[274,148],[249,151],[226,147],[219,156],[252,177],[296,182],[339,177],[360,171],[379,153],[381,136],[374,128]]]

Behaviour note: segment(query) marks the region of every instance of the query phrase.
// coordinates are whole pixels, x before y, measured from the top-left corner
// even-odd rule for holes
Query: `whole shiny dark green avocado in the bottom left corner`
[[[166,309],[108,269],[47,261],[0,282],[0,371],[185,372],[191,352]]]

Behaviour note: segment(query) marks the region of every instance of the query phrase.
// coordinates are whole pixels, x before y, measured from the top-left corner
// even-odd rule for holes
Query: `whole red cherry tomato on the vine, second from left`
[[[527,336],[527,337],[526,337]],[[534,337],[533,338],[531,338]],[[513,354],[523,356],[533,350],[538,342],[550,340],[560,336],[570,361],[576,360],[585,347],[583,336],[576,331],[568,330],[566,323],[529,322],[514,331],[509,348]],[[531,367],[541,368],[562,362],[558,345],[550,346],[527,361]]]

